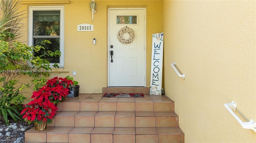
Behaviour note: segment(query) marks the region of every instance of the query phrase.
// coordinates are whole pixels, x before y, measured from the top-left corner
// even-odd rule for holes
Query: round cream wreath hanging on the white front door
[[[128,39],[124,39],[124,33],[128,33],[129,34],[129,38]],[[123,27],[121,28],[118,33],[117,33],[117,39],[119,42],[123,43],[123,44],[130,44],[132,43],[132,41],[134,40],[134,31],[129,28],[129,27]]]

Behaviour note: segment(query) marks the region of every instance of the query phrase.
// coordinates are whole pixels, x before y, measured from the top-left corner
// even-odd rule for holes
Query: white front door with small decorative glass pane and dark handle
[[[146,85],[144,13],[144,9],[109,9],[109,86]],[[121,43],[117,37],[118,31],[126,26],[134,31],[134,39],[130,43]],[[131,36],[128,32],[121,35],[124,40]]]

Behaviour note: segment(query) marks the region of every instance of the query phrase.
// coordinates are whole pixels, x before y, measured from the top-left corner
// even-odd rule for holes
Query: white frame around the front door
[[[146,8],[108,8],[108,87],[110,85],[110,68],[109,68],[109,62],[110,62],[110,41],[109,41],[109,11],[110,10],[144,10],[144,87],[146,87]]]

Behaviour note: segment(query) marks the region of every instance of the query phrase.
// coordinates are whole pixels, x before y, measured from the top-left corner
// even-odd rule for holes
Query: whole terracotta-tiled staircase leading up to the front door
[[[144,93],[144,98],[102,98],[103,95],[66,98],[58,104],[58,113],[47,129],[26,131],[25,142],[184,143],[174,102],[166,96]]]

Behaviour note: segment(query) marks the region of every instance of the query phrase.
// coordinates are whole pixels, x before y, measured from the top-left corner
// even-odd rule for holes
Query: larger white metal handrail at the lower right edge
[[[244,129],[252,129],[254,132],[256,132],[256,123],[252,119],[248,122],[243,122],[234,111],[236,111],[236,103],[232,101],[231,103],[226,103],[224,106],[228,109],[228,111],[234,116],[234,118],[242,125]],[[231,110],[233,109],[233,110]]]

